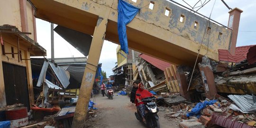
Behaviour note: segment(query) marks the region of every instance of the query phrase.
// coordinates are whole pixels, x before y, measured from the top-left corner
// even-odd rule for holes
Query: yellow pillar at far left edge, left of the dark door
[[[0,43],[0,108],[6,106],[3,64],[2,64],[2,45]]]

